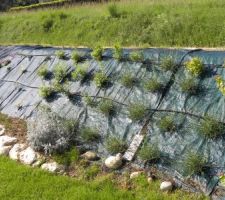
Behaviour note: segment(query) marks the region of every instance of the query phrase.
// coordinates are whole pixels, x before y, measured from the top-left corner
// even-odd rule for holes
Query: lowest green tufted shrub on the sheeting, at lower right
[[[188,175],[200,174],[206,167],[206,160],[201,154],[189,152],[184,162],[185,171]]]

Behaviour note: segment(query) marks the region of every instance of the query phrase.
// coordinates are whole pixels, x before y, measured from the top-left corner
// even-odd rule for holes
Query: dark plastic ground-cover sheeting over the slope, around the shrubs
[[[74,49],[63,49],[65,59],[59,59],[56,48],[43,47],[1,47],[0,62],[0,110],[10,116],[31,118],[40,104],[48,104],[60,116],[79,119],[80,124],[97,128],[102,138],[116,135],[131,143],[134,135],[138,134],[143,126],[147,127],[145,143],[157,144],[162,158],[158,167],[167,171],[179,180],[184,180],[187,153],[192,150],[200,153],[210,163],[207,173],[192,176],[192,180],[200,183],[200,188],[210,194],[218,183],[218,174],[224,171],[225,140],[221,136],[208,139],[199,133],[197,128],[203,116],[212,116],[220,122],[225,121],[224,96],[217,88],[215,75],[225,78],[223,62],[225,52],[203,50],[171,50],[171,49],[144,49],[144,62],[130,61],[129,54],[136,50],[124,50],[126,59],[118,61],[112,58],[112,50],[106,49],[102,61],[96,61],[90,56],[90,49],[78,49],[84,54],[82,65],[88,66],[90,74],[102,70],[110,77],[107,88],[96,87],[93,80],[84,83],[69,80],[70,92],[73,98],[58,93],[48,101],[41,98],[38,88],[42,85],[51,85],[53,79],[42,80],[37,72],[44,65],[52,71],[59,63],[67,72],[76,70],[80,64],[74,64],[70,59]],[[159,65],[162,58],[171,56],[177,64],[174,72],[163,71]],[[207,73],[198,78],[200,90],[197,95],[185,94],[181,91],[180,83],[188,72],[184,63],[193,57],[199,57]],[[10,61],[10,63],[6,63]],[[4,63],[7,66],[4,66]],[[138,82],[130,89],[121,84],[121,77],[132,74]],[[145,80],[157,78],[164,84],[162,92],[151,93],[144,89]],[[88,95],[97,102],[102,99],[112,99],[116,105],[117,113],[106,117],[97,107],[87,106],[83,96]],[[144,119],[133,122],[128,116],[128,105],[142,103],[147,107]],[[173,133],[162,132],[159,121],[165,116],[172,116],[176,123]],[[99,154],[107,155],[104,139],[100,143],[91,144]],[[134,161],[144,166],[143,162]],[[145,163],[145,167],[151,166]]]

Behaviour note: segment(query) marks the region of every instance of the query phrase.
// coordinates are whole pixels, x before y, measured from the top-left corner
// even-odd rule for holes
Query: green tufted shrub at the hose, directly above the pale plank
[[[142,120],[147,114],[147,107],[143,104],[130,104],[128,106],[128,116],[133,121]]]

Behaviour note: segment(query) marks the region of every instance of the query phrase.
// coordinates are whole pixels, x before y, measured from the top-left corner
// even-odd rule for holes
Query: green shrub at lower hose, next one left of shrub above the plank
[[[99,110],[106,116],[114,116],[116,114],[116,105],[112,100],[102,100],[99,105]]]

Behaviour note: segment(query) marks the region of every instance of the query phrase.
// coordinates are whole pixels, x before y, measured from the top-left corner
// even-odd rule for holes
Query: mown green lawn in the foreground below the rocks
[[[115,183],[117,182],[117,183]],[[177,190],[159,191],[159,182],[136,179],[128,190],[122,177],[101,175],[93,180],[56,176],[0,157],[0,199],[2,200],[188,200],[206,199]]]

